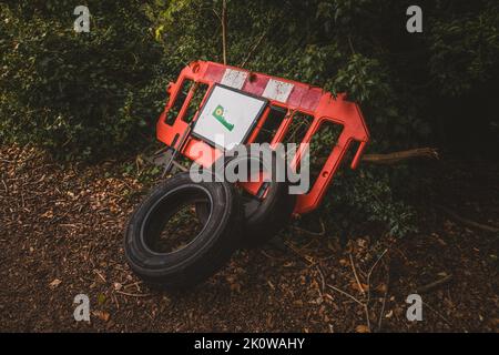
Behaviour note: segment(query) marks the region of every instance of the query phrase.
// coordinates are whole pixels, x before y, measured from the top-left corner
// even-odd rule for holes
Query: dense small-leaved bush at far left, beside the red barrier
[[[92,159],[152,136],[169,78],[139,2],[126,2],[90,3],[90,33],[73,31],[70,1],[1,6],[0,139]]]

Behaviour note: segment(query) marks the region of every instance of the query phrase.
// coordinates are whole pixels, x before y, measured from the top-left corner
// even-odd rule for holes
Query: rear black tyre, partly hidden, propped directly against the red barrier
[[[237,159],[249,160],[253,158],[248,158],[248,155],[243,158],[230,156],[225,159],[224,166],[234,163]],[[274,155],[272,159],[273,169],[275,164],[276,159]],[[220,174],[220,172],[216,173]],[[296,195],[289,194],[289,183],[287,181],[277,182],[274,174],[272,181],[265,184],[266,193],[264,197],[254,196],[245,191],[242,192],[241,204],[244,229],[241,246],[244,248],[254,248],[272,240],[289,223],[296,205]],[[207,213],[206,204],[196,204],[196,214],[201,221],[206,220]]]

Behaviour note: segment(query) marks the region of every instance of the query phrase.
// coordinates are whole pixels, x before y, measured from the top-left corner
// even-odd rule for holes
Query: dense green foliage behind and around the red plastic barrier
[[[497,93],[497,1],[419,1],[424,33],[416,34],[405,28],[411,3],[399,0],[227,3],[228,62],[347,91],[361,104],[371,152],[435,142],[447,122],[439,102]],[[138,151],[153,139],[164,88],[179,70],[222,61],[222,1],[86,1],[90,33],[72,29],[77,4],[0,4],[0,140],[69,159]],[[394,234],[409,231],[410,209],[399,202],[414,176],[407,168],[345,175],[324,213],[348,206]],[[404,189],[394,182],[400,179]]]

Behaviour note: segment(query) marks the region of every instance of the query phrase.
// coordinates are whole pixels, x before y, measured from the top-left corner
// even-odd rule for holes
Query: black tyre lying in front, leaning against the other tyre
[[[203,200],[211,205],[201,232],[182,248],[162,253],[152,241],[186,202]],[[237,192],[224,182],[192,182],[180,173],[154,187],[134,211],[125,231],[124,250],[132,271],[146,283],[162,288],[186,288],[220,270],[237,248],[241,237]]]

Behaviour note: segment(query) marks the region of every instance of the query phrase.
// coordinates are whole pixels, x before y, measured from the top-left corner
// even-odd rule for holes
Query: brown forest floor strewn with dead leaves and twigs
[[[499,227],[499,168],[438,164],[429,173],[441,206],[420,207],[416,235],[366,232],[342,246],[333,232],[293,226],[284,242],[237,252],[208,282],[167,294],[144,286],[123,253],[147,186],[118,163],[62,168],[34,149],[0,148],[0,331],[498,332],[499,233],[470,221]],[[416,292],[422,321],[409,322]],[[82,293],[90,322],[73,318]]]

